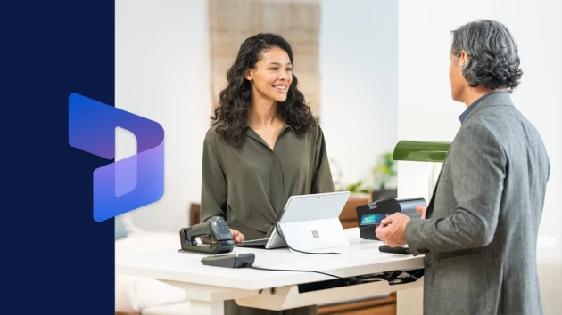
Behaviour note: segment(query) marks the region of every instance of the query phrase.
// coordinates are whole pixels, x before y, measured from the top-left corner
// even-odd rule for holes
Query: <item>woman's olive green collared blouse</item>
[[[269,237],[289,197],[334,191],[319,125],[297,138],[285,124],[273,150],[247,124],[241,149],[216,127],[203,142],[201,222],[219,215],[247,240]]]

